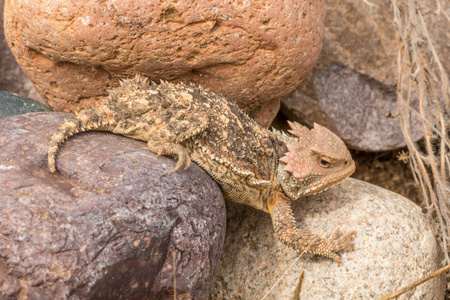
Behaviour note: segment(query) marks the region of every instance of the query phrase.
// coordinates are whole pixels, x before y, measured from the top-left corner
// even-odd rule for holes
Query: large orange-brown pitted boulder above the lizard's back
[[[314,65],[322,23],[321,0],[7,0],[5,6],[13,53],[49,105],[63,111],[91,105],[122,74],[135,73],[201,84],[253,117],[266,107],[274,111]]]

